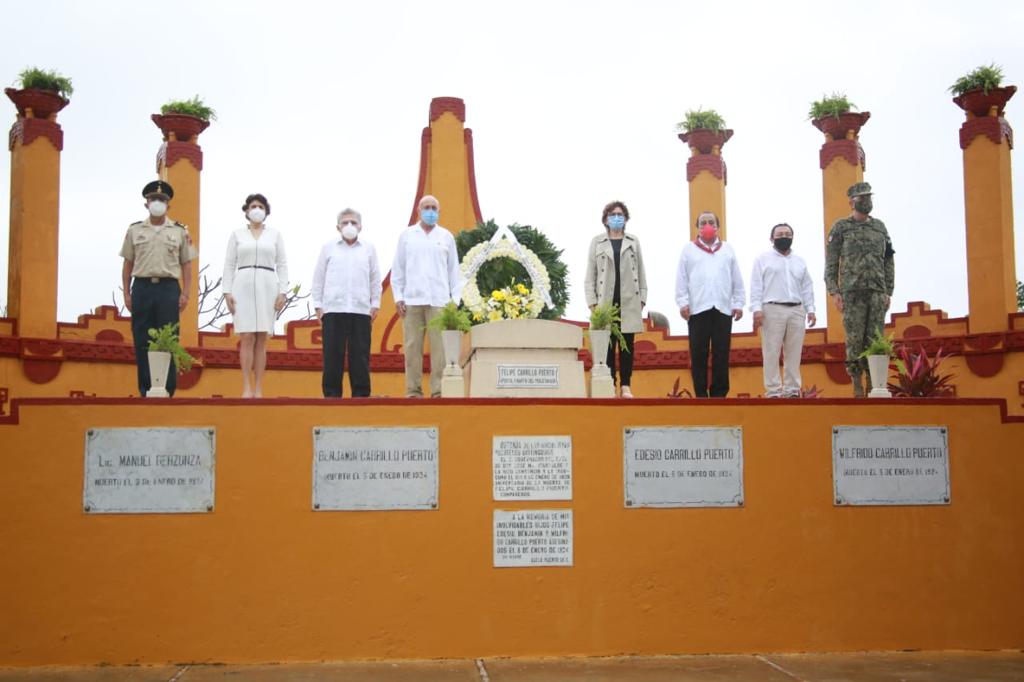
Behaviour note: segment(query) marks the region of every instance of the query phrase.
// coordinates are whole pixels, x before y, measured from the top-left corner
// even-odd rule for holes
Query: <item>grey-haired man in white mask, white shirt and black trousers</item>
[[[339,213],[338,231],[341,238],[321,249],[310,291],[323,330],[324,397],[341,397],[346,354],[352,397],[369,397],[370,338],[381,307],[381,268],[374,245],[359,236],[358,211]]]

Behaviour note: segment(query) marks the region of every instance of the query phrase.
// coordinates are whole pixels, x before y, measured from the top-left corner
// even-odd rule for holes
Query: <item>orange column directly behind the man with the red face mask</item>
[[[706,129],[691,130],[679,135],[690,147],[686,162],[686,181],[690,187],[690,239],[697,238],[697,216],[711,211],[718,216],[719,238],[726,239],[725,185],[728,175],[722,146],[732,137],[731,130],[713,132]]]

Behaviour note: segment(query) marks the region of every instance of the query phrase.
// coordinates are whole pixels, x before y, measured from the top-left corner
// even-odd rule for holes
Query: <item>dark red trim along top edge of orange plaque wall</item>
[[[723,407],[763,407],[786,409],[790,407],[828,406],[871,408],[885,414],[893,407],[985,407],[999,409],[1002,423],[1024,423],[1024,416],[1011,416],[1006,398],[892,398],[890,400],[866,400],[863,398],[429,398],[413,401],[409,398],[140,398],[140,397],[15,397],[10,402],[10,415],[0,416],[0,424],[18,424],[23,407],[47,406],[125,406],[125,407],[238,407],[278,408],[287,407],[330,407],[332,410],[345,408],[442,408],[442,407],[486,407],[505,409],[513,407],[590,407],[613,410],[639,409],[645,407],[678,406],[681,413],[691,414],[694,409],[720,410]],[[689,420],[688,420],[689,421]]]

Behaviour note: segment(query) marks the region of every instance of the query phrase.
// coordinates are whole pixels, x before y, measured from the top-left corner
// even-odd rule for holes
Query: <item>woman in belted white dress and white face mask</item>
[[[221,286],[234,318],[234,332],[242,337],[242,397],[262,397],[266,339],[273,334],[276,313],[285,307],[288,261],[281,232],[264,224],[270,215],[266,197],[249,195],[242,210],[249,224],[236,229],[227,240]]]

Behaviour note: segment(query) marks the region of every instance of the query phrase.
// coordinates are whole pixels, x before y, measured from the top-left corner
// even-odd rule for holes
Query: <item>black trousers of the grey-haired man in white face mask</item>
[[[327,312],[321,319],[324,343],[324,397],[341,397],[341,375],[348,355],[352,397],[370,396],[370,315]]]

